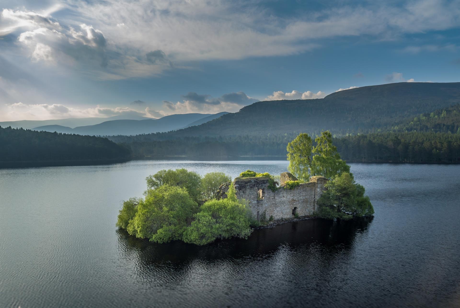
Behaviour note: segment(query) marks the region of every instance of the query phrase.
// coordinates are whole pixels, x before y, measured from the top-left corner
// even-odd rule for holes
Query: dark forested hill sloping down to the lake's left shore
[[[32,162],[29,165],[41,162],[37,165],[44,165],[43,162],[113,161],[129,158],[128,148],[107,138],[0,126],[0,165],[14,166],[13,163],[21,165],[21,162]]]

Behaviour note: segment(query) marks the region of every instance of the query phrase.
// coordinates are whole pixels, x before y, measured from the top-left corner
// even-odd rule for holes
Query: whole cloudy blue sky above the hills
[[[0,121],[457,82],[460,0],[1,0]]]

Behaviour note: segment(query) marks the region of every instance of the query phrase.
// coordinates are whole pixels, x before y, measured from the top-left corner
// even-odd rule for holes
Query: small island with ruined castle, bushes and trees
[[[247,238],[253,228],[290,218],[351,219],[374,208],[340,159],[329,131],[288,144],[288,171],[279,179],[247,170],[233,181],[222,172],[201,177],[186,169],[161,170],[146,178],[144,198],[123,203],[116,226],[157,243],[182,240],[206,245]]]

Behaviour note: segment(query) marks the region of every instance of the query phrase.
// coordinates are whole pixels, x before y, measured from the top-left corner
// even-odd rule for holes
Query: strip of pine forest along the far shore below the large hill
[[[185,137],[176,140],[132,142],[133,156],[184,155],[284,156],[295,134],[265,137]],[[313,136],[315,137],[315,136]],[[334,137],[340,156],[362,162],[460,162],[460,134],[440,132],[385,132]]]

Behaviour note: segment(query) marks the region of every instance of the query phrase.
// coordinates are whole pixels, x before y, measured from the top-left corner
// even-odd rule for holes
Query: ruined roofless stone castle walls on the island
[[[316,201],[325,190],[325,177],[311,177],[310,182],[300,183],[292,189],[285,187],[286,181],[296,181],[289,172],[281,174],[280,187],[275,191],[269,188],[269,177],[237,177],[234,186],[236,197],[249,201],[253,218],[257,220],[291,218],[311,215],[316,210]],[[226,197],[230,183],[221,188],[222,197]]]

